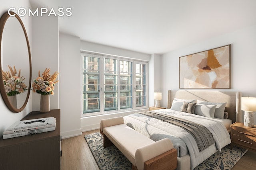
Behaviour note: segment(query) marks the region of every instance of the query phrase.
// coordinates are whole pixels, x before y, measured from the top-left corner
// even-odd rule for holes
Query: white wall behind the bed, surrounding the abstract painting
[[[231,44],[230,91],[256,97],[256,25],[252,25],[162,55],[163,100],[167,100],[168,90],[179,89],[179,57],[228,44]]]

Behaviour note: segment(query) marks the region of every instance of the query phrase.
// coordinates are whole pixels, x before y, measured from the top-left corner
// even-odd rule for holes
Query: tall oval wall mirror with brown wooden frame
[[[20,17],[14,12],[0,19],[0,92],[6,106],[22,111],[31,87],[31,54],[28,35]]]

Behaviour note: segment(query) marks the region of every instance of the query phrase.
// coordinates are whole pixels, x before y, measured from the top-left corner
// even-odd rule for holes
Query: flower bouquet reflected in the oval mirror
[[[23,78],[23,76],[20,77],[20,70],[18,76],[16,76],[17,70],[15,66],[13,66],[13,69],[9,65],[8,67],[10,72],[4,72],[2,70],[4,88],[7,93],[7,96],[15,96],[16,94],[24,93],[26,90],[28,90],[26,84],[23,81],[25,78]]]

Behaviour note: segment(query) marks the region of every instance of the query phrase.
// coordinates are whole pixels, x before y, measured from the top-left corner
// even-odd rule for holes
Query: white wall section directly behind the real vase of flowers
[[[46,68],[50,68],[50,74],[59,72],[59,32],[58,17],[33,16],[32,17],[32,80],[38,77]],[[60,74],[61,75],[61,74]],[[57,79],[58,80],[58,79]],[[59,108],[59,86],[54,86],[54,95],[50,95],[50,108]],[[33,93],[33,111],[40,110],[40,94]]]

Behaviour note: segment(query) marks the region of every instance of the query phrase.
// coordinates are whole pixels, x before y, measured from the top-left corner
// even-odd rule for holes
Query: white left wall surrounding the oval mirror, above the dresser
[[[1,1],[1,5],[0,5],[0,16],[2,16],[5,12],[8,11],[8,9],[10,7],[14,7],[14,8],[20,8],[20,7],[24,7],[24,8],[29,8],[30,7],[30,3],[28,0],[9,0],[9,1]],[[24,16],[21,18],[26,32],[28,34],[28,39],[30,42],[30,47],[32,44],[32,18],[29,18],[28,16]],[[15,50],[15,49],[14,49]],[[20,61],[20,63],[22,64],[25,61]],[[27,61],[26,61],[27,62]],[[23,63],[25,64],[25,63]],[[6,128],[8,128],[10,125],[12,125],[12,123],[14,123],[15,121],[19,121],[20,119],[22,119],[25,115],[27,115],[28,113],[30,113],[30,111],[32,111],[32,97],[31,97],[31,93],[30,93],[30,98],[28,100],[28,104],[25,107],[25,109],[23,111],[21,111],[20,113],[13,113],[11,112],[6,105],[4,104],[4,101],[2,99],[2,97],[0,97],[0,137],[3,135],[3,132]]]

